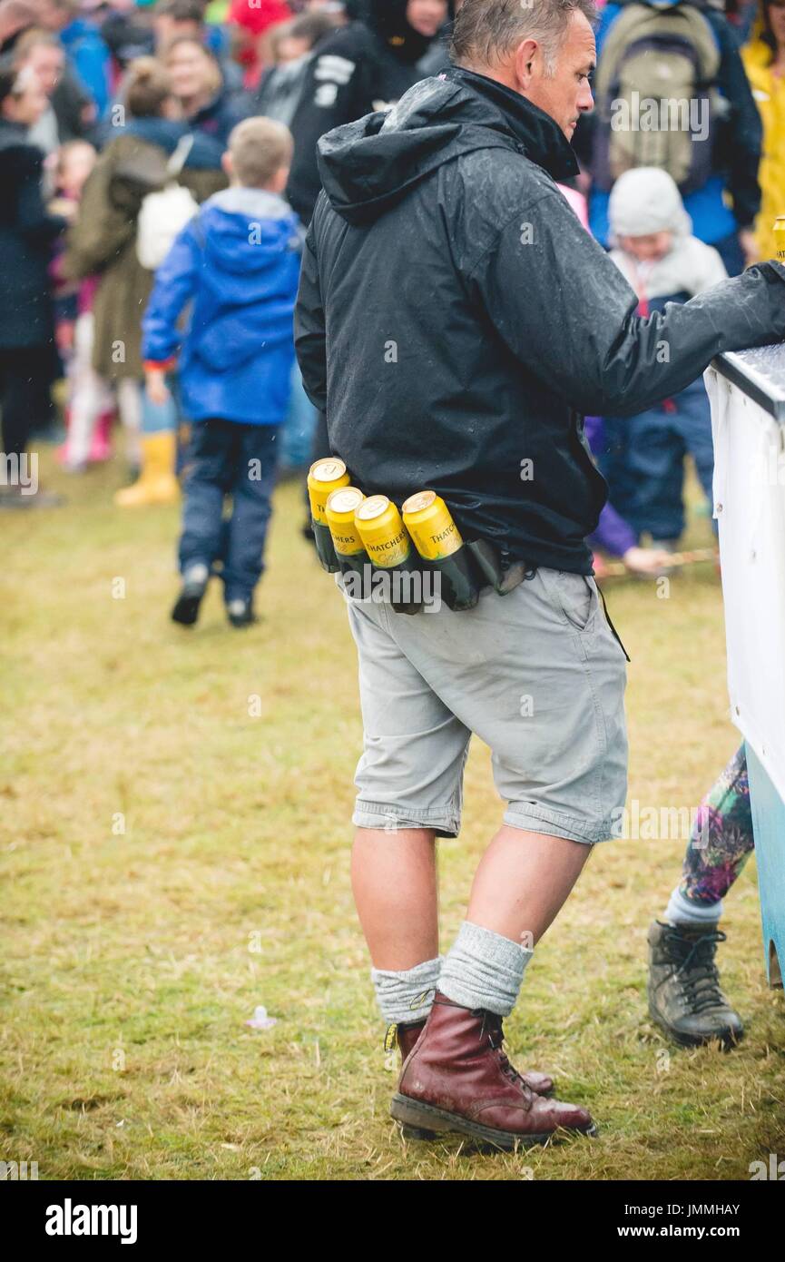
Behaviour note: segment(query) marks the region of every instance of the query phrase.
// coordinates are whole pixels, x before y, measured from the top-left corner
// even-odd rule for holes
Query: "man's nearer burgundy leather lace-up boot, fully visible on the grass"
[[[457,1131],[507,1151],[545,1143],[559,1128],[597,1133],[586,1109],[543,1099],[526,1085],[502,1050],[497,1016],[463,1008],[440,991],[390,1113],[420,1135]]]

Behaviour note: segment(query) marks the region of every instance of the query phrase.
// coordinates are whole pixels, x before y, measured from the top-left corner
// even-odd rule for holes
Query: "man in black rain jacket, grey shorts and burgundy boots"
[[[774,262],[637,317],[557,188],[592,106],[593,18],[591,0],[463,0],[453,69],[324,136],[297,314],[352,481],[399,505],[433,488],[464,540],[534,570],[463,612],[404,617],[345,591],[365,726],[353,888],[406,1058],[392,1116],[502,1147],[593,1132],[501,1050],[533,946],[626,796],[625,655],[584,543],[606,486],[582,415],[634,414],[718,352],[785,336]],[[434,837],[459,828],[472,732],[509,805],[442,959]]]

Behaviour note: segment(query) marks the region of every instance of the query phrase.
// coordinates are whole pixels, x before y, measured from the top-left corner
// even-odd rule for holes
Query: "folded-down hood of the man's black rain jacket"
[[[387,114],[369,114],[318,143],[319,174],[334,211],[369,223],[409,189],[476,149],[511,149],[554,179],[578,173],[558,124],[502,83],[453,68],[415,83]]]

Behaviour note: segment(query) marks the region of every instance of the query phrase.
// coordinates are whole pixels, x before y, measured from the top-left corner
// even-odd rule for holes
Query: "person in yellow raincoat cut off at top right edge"
[[[741,56],[764,124],[757,256],[774,259],[774,221],[785,215],[785,0],[760,0],[752,38]]]

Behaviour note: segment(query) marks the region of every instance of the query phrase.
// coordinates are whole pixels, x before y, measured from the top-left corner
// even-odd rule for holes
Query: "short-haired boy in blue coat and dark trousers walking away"
[[[192,422],[179,543],[183,587],[172,611],[183,626],[197,621],[218,559],[231,625],[255,621],[276,439],[294,362],[302,231],[281,197],[290,162],[292,136],[281,124],[256,117],[235,127],[223,155],[231,187],[204,202],[177,237],[155,274],[143,321],[148,395],[165,401],[165,374],[177,361],[182,406]],[[232,498],[227,522],[226,496]]]

